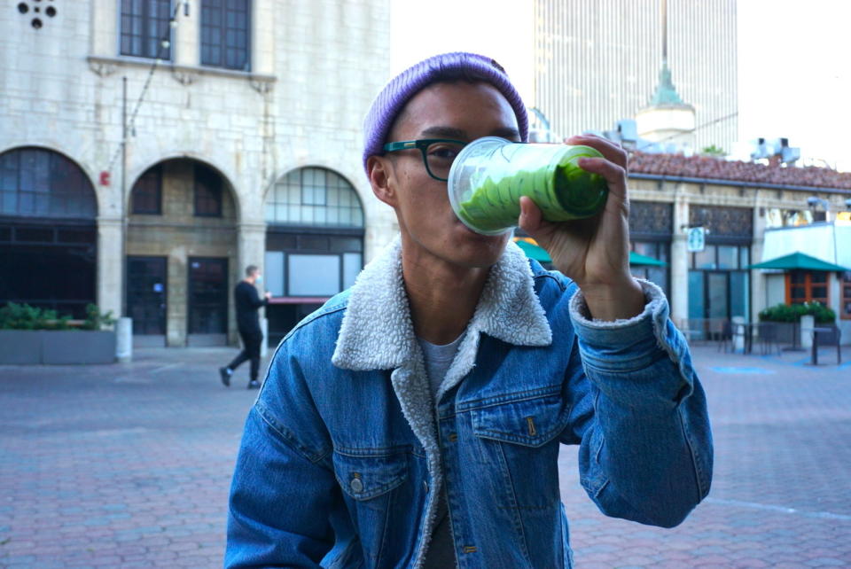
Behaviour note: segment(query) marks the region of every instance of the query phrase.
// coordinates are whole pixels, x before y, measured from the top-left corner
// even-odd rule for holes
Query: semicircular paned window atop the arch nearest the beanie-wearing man
[[[363,227],[361,200],[352,184],[325,168],[299,168],[279,180],[266,198],[270,224]]]

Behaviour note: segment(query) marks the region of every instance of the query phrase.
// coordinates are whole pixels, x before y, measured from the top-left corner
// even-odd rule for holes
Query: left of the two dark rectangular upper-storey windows
[[[121,0],[121,55],[171,59],[171,0]]]

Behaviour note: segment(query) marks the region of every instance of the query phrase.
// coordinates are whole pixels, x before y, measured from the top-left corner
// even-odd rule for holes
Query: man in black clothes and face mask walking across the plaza
[[[266,292],[263,300],[257,294],[255,284],[262,281],[260,269],[255,265],[246,267],[246,277],[239,281],[233,290],[233,301],[237,307],[237,329],[239,337],[242,338],[242,351],[226,367],[219,368],[219,376],[225,387],[230,387],[230,376],[240,363],[251,361],[251,376],[248,381],[248,389],[260,388],[257,381],[257,372],[260,370],[260,345],[263,341],[263,332],[260,331],[260,318],[257,311],[260,307],[269,303],[271,292]]]

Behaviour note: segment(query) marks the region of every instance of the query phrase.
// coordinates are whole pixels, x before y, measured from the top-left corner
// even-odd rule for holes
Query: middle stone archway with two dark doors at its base
[[[237,204],[225,177],[164,160],[130,191],[127,312],[136,346],[223,346],[236,284]]]

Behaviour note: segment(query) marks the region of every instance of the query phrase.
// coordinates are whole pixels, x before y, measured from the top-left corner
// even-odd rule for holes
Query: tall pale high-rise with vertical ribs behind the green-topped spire
[[[668,68],[695,110],[697,149],[738,139],[736,0],[535,0],[534,105],[558,136],[612,129],[650,104]]]

